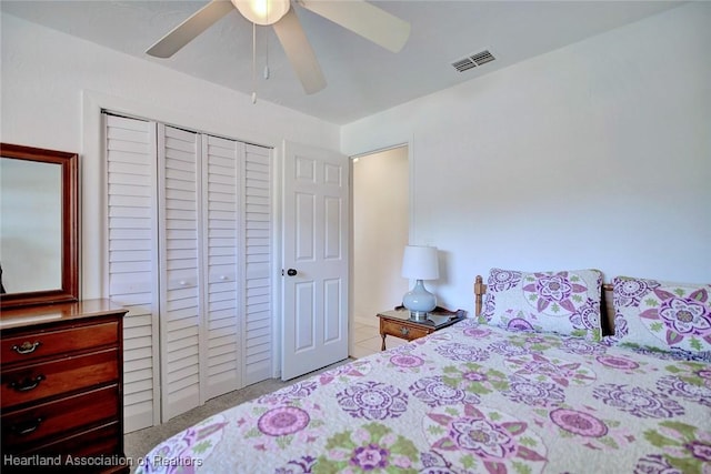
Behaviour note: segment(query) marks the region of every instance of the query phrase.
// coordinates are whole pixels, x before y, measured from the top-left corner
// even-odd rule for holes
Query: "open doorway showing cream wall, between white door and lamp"
[[[408,154],[408,145],[401,145],[353,158],[349,347],[353,357],[380,351],[375,315],[399,305],[409,289],[400,274],[410,232]]]

